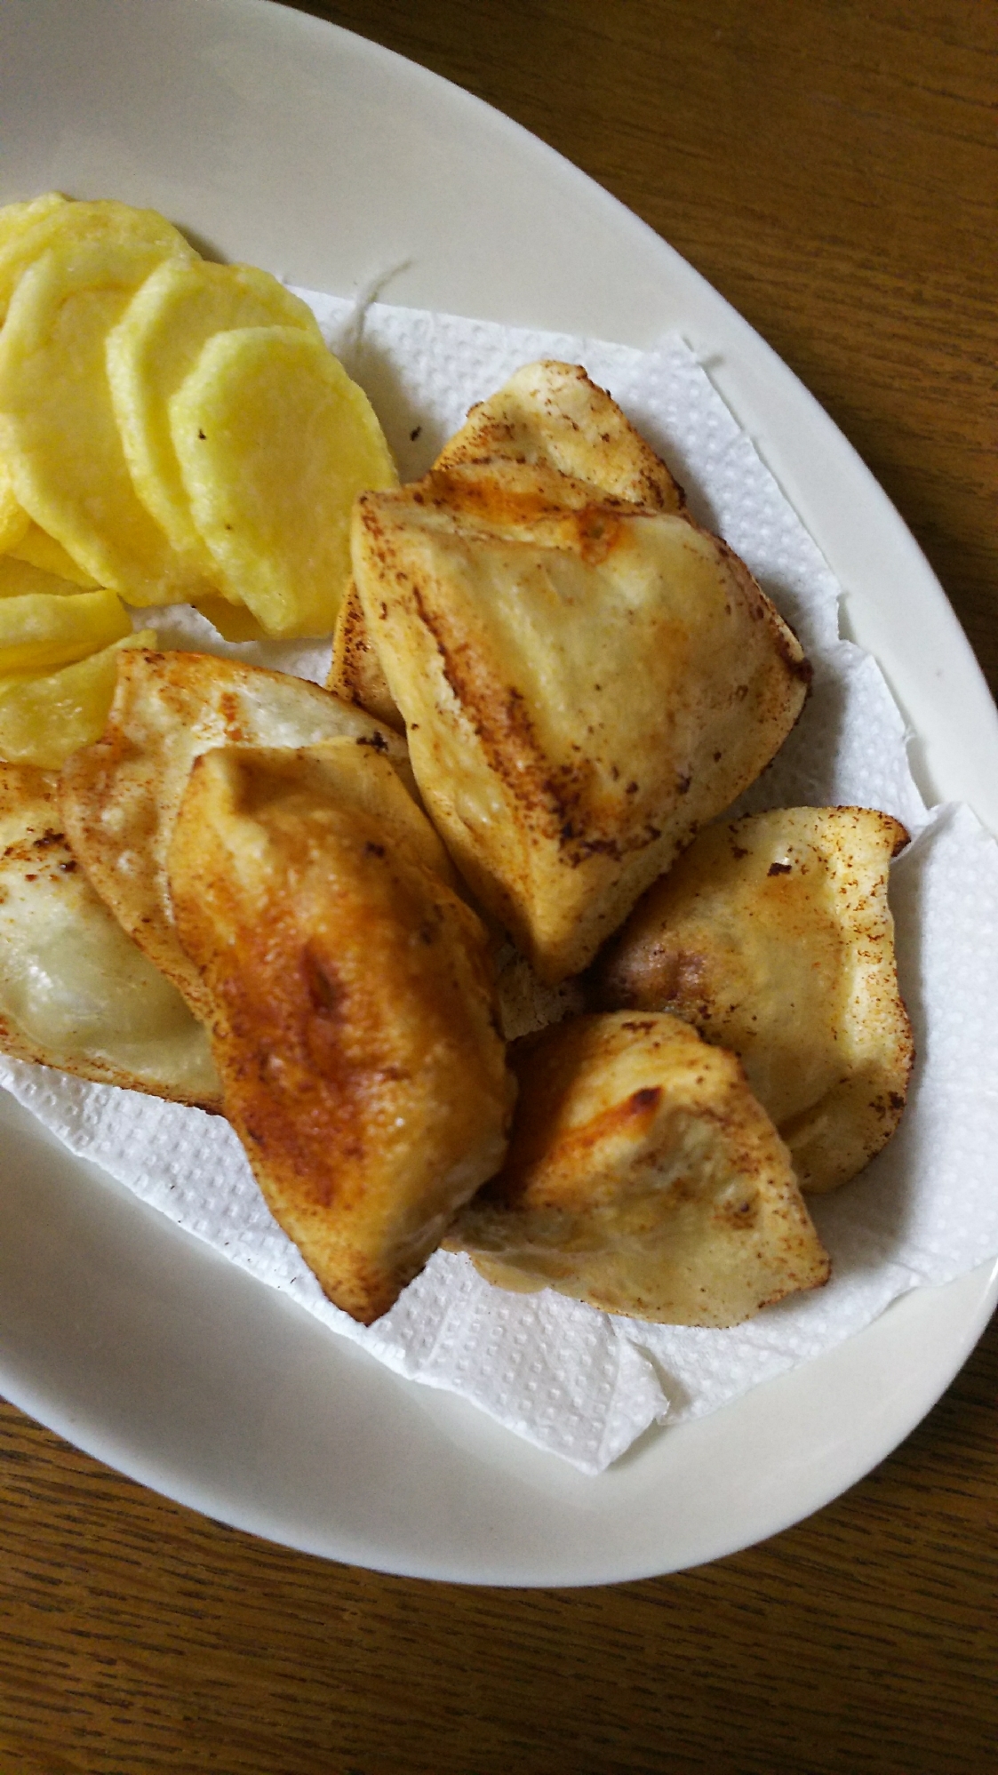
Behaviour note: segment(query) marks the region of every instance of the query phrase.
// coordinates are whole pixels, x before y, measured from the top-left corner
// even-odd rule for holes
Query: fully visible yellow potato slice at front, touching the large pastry
[[[295,327],[215,334],[170,401],[218,584],[270,635],[323,635],[350,575],[350,508],[398,481],[368,396]]]

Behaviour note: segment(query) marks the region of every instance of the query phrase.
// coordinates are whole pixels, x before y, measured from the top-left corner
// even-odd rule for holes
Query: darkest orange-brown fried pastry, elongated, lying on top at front
[[[488,939],[387,761],[337,740],[194,765],[170,848],[226,1115],[337,1306],[369,1324],[501,1164]]]

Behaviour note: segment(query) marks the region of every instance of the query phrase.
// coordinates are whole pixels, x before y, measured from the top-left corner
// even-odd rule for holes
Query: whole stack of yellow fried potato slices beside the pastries
[[[0,321],[2,758],[96,738],[124,605],[332,630],[353,497],[396,470],[304,302],[151,209],[50,193],[0,209]]]

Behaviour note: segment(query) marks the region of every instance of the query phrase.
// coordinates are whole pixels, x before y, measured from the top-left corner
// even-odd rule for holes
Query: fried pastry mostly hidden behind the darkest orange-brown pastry
[[[167,888],[174,820],[199,753],[215,746],[314,746],[350,738],[408,774],[405,744],[329,690],[210,653],[123,651],[108,724],[62,772],[73,850],[124,930],[197,1015],[199,971],[181,950]]]

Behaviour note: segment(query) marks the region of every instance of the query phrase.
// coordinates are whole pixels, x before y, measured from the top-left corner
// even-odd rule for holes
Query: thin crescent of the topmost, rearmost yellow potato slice
[[[34,211],[30,217],[28,209]],[[135,209],[114,199],[66,202],[50,193],[25,206],[14,225],[0,233],[0,321],[7,316],[21,275],[51,247],[73,252],[87,243],[114,241],[146,243],[158,259],[167,254],[195,257],[194,247],[156,209]]]

